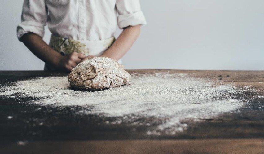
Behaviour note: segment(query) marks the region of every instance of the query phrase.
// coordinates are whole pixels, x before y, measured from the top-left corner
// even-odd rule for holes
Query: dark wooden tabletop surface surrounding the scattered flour
[[[264,153],[264,71],[192,71],[128,70],[129,73],[187,73],[206,77],[221,84],[249,86],[241,98],[250,103],[239,113],[221,118],[188,123],[186,131],[175,135],[149,137],[144,128],[132,133],[128,126],[93,125],[98,117],[73,117],[63,111],[36,104],[18,103],[14,98],[0,98],[0,153]],[[12,82],[34,77],[67,75],[48,71],[0,71],[0,88]],[[2,88],[1,88],[2,89]],[[1,90],[0,89],[0,90]],[[251,90],[255,89],[255,90]],[[1,91],[0,91],[1,92]],[[20,98],[34,100],[35,98]],[[56,112],[58,110],[58,112]],[[23,111],[23,112],[21,112]],[[7,120],[15,115],[12,121]],[[23,119],[29,119],[25,122]],[[34,119],[46,119],[48,126],[32,126]],[[86,127],[89,125],[89,127]],[[32,134],[32,132],[38,132]],[[19,142],[26,141],[26,142]]]

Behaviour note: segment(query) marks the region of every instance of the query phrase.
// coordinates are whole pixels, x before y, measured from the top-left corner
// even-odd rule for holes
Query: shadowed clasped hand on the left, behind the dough
[[[58,63],[55,64],[57,68],[71,71],[77,64],[79,64],[82,59],[86,56],[81,53],[73,52],[66,56],[61,56]]]

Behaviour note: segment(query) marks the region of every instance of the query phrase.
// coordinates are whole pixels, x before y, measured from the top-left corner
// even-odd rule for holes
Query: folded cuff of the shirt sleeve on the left
[[[16,29],[17,38],[21,41],[21,37],[29,32],[35,33],[40,37],[44,37],[44,25],[34,21],[24,21],[21,22]]]

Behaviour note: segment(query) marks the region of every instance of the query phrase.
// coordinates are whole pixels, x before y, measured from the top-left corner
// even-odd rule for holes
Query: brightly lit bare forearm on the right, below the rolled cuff
[[[113,45],[106,50],[101,57],[109,57],[119,60],[130,49],[139,37],[141,25],[129,26],[123,30]]]

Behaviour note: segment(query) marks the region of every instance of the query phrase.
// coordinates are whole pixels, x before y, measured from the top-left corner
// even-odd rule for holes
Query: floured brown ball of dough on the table
[[[127,84],[131,75],[116,60],[95,57],[79,63],[68,75],[70,86],[81,90],[100,90]]]

